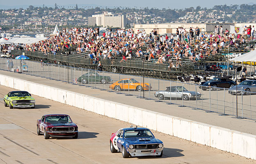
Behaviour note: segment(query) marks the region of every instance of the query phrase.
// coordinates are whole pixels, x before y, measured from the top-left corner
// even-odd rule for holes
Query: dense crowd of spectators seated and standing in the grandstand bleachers
[[[154,29],[150,34],[145,30],[109,28],[102,35],[95,28],[71,28],[63,29],[53,37],[34,44],[26,44],[25,50],[40,51],[45,54],[56,54],[58,51],[76,47],[77,53],[87,53],[91,64],[98,64],[103,59],[127,59],[141,58],[157,63],[168,63],[169,68],[178,68],[182,59],[191,62],[216,55],[223,48],[239,48],[244,42],[255,38],[254,26],[246,27],[244,34],[234,36],[228,30],[216,26],[214,32],[201,32],[198,27],[188,31],[178,27],[176,36],[159,36]],[[173,63],[175,60],[175,64]]]

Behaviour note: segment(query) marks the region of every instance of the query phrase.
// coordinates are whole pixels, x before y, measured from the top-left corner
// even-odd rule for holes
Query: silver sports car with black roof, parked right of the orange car
[[[171,92],[170,92],[171,89]],[[183,94],[182,94],[183,93]],[[166,98],[183,98],[183,100],[190,100],[201,97],[200,92],[195,91],[188,91],[185,87],[183,87],[182,92],[182,86],[175,86],[175,87],[166,87],[165,91],[157,91],[155,92],[155,97],[159,97],[160,100],[164,100]]]

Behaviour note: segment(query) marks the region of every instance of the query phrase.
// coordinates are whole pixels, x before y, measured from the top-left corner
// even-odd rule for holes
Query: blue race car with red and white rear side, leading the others
[[[122,152],[127,158],[156,155],[162,157],[164,144],[147,128],[122,128],[110,137],[111,153]]]

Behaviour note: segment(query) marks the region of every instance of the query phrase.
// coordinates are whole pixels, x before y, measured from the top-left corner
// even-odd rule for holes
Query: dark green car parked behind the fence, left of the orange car
[[[99,75],[97,72],[89,72],[78,77],[78,82],[83,82],[83,84],[88,84],[89,82],[100,82],[101,84],[107,84],[113,80],[109,76]]]

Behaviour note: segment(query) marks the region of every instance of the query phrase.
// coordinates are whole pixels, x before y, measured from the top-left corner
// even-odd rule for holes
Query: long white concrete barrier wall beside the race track
[[[255,135],[152,112],[5,75],[0,75],[0,84],[198,144],[256,159]]]

